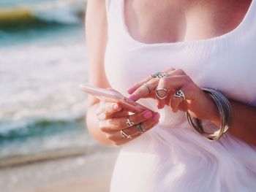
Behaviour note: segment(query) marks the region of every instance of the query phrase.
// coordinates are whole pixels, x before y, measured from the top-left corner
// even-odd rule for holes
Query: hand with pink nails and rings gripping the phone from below
[[[145,110],[129,115],[128,109],[113,102],[101,101],[96,115],[99,119],[100,130],[114,145],[123,145],[139,137],[142,134],[138,128],[139,123],[142,123],[144,131],[148,131],[159,123],[159,113],[157,112]],[[127,120],[133,125],[127,125],[129,124]]]

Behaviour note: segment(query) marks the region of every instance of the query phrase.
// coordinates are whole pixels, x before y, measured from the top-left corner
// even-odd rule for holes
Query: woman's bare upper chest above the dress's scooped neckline
[[[232,31],[250,4],[251,0],[124,0],[124,20],[139,42],[186,42]]]

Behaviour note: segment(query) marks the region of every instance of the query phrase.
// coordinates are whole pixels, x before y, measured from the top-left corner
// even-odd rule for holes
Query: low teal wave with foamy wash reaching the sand
[[[1,123],[0,169],[97,152],[99,146],[84,126],[82,118]]]

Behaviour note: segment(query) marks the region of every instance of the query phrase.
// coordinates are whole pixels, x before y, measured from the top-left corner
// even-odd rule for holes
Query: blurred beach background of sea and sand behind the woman
[[[85,10],[86,0],[0,1],[0,191],[108,191],[117,150],[89,136],[78,89]]]

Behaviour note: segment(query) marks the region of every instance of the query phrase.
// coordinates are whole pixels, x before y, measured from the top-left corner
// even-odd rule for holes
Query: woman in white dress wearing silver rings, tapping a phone
[[[255,191],[255,0],[89,0],[86,36],[91,85],[151,109],[90,99],[91,135],[122,145],[110,191]],[[185,115],[206,129],[231,119],[202,88],[233,111],[216,142]]]

